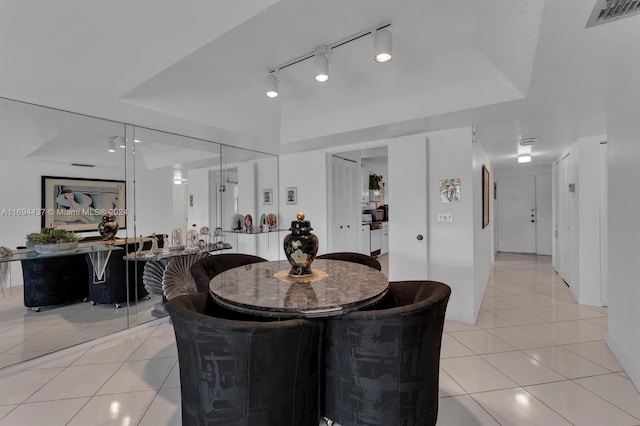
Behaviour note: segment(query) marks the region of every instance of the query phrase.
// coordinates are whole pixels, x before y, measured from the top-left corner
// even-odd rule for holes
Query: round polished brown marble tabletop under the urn
[[[341,260],[316,259],[313,275],[293,278],[286,260],[230,269],[211,279],[213,298],[236,311],[269,317],[326,317],[361,309],[387,292],[387,276]]]

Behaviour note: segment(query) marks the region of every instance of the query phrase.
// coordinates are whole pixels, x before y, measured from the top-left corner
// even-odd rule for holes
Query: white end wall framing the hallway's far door
[[[518,166],[508,169],[496,169],[492,179],[502,177],[535,176],[536,182],[536,253],[550,256],[552,246],[552,208],[551,208],[551,166]],[[493,188],[491,188],[493,191]],[[496,229],[500,232],[499,229]]]

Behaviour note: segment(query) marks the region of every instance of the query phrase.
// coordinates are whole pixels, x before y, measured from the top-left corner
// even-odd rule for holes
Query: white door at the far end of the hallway
[[[498,178],[498,250],[536,252],[535,176]]]

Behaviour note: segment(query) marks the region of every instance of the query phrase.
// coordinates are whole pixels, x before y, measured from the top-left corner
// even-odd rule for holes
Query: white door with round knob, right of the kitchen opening
[[[429,279],[427,138],[409,135],[389,144],[389,279]]]

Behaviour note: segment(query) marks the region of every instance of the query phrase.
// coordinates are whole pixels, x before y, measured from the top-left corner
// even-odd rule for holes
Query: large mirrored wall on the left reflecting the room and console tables
[[[7,99],[0,117],[0,368],[162,317],[175,259],[284,258],[276,156]],[[43,226],[81,248],[23,248]]]

